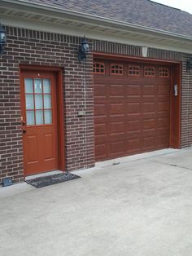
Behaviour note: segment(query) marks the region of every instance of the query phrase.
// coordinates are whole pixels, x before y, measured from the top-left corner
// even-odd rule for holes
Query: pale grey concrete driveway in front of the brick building
[[[45,188],[0,188],[1,256],[192,255],[192,150],[77,174]]]

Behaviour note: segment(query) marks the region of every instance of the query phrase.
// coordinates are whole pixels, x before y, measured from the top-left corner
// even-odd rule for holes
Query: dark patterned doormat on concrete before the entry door
[[[42,188],[56,183],[63,183],[64,181],[79,179],[80,176],[70,174],[69,172],[63,172],[61,174],[53,174],[49,176],[42,176],[34,179],[25,180],[26,183],[32,185],[35,188]]]

